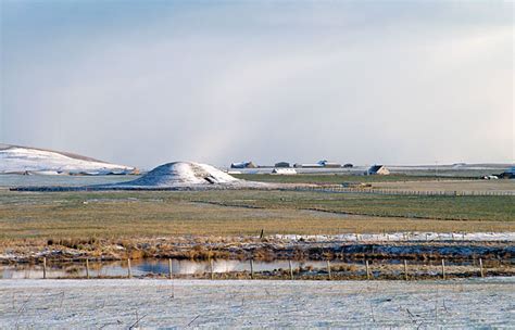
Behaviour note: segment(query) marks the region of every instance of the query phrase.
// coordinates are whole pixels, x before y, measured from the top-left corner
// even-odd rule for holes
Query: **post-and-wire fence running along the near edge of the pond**
[[[281,267],[263,269],[253,259],[239,262],[239,267],[225,269],[218,261],[204,262],[201,271],[177,272],[173,259],[160,259],[159,267],[136,267],[131,259],[121,262],[118,267],[101,261],[85,259],[73,263],[66,268],[51,265],[43,257],[36,265],[30,265],[32,276],[40,279],[96,279],[96,278],[168,278],[168,279],[271,279],[271,280],[423,280],[451,279],[467,277],[514,276],[512,259],[363,259],[361,262],[317,261],[309,262],[281,261]],[[136,261],[137,263],[138,261]],[[258,263],[258,264],[256,264]],[[11,265],[12,268],[15,267]],[[56,271],[55,269],[60,269]],[[66,270],[64,270],[66,269]],[[104,269],[105,271],[102,271]],[[1,274],[0,274],[1,275]],[[1,277],[0,277],[1,278]],[[4,277],[9,278],[9,277]],[[11,277],[13,278],[13,277]],[[17,277],[23,278],[23,277]]]

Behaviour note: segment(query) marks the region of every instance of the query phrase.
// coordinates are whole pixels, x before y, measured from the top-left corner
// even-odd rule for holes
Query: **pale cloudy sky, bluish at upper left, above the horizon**
[[[0,142],[152,168],[512,163],[510,1],[0,0]]]

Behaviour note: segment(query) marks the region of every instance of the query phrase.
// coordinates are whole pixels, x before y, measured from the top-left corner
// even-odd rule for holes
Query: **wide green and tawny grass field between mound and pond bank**
[[[0,190],[0,241],[8,244],[25,239],[256,236],[261,229],[266,234],[514,231],[514,214],[515,196]]]

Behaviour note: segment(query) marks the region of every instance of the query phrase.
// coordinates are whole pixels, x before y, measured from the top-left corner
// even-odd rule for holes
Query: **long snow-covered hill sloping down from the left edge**
[[[0,174],[133,174],[129,166],[51,150],[0,144]]]

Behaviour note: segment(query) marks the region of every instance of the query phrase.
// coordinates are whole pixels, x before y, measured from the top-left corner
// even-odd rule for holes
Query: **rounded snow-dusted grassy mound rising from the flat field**
[[[181,187],[193,185],[231,185],[242,180],[206,164],[174,162],[155,167],[134,181],[117,183],[128,187]]]

